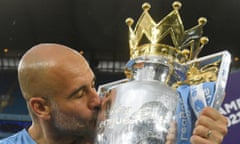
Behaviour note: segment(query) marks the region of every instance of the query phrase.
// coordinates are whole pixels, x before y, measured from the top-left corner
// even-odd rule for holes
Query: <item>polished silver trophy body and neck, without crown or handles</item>
[[[166,142],[170,125],[175,123],[178,95],[164,83],[168,67],[141,65],[135,79],[100,89],[100,95],[105,96],[99,114],[98,144]]]

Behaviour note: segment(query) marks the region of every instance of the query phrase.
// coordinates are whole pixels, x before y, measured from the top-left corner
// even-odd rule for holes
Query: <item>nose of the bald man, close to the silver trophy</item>
[[[99,110],[101,104],[101,100],[99,95],[96,92],[96,89],[91,89],[89,93],[89,102],[88,107],[91,110]]]

